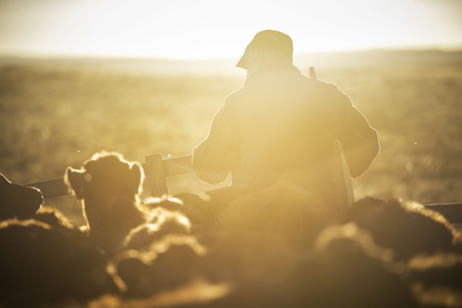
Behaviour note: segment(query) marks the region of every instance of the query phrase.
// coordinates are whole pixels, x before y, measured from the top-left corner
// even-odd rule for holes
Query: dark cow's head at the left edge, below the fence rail
[[[14,184],[0,174],[0,221],[32,218],[42,203],[40,190]]]

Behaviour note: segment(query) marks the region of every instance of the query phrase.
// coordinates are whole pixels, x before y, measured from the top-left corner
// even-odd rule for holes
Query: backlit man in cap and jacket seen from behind
[[[377,132],[336,85],[302,75],[293,65],[290,36],[257,33],[237,67],[244,87],[229,94],[192,165],[211,184],[259,189],[278,180],[300,183],[328,197],[334,140],[341,141],[352,177],[379,152]],[[321,192],[322,191],[322,192]]]

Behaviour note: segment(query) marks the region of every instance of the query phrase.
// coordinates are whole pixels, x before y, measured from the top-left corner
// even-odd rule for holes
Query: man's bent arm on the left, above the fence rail
[[[236,159],[237,125],[232,108],[225,102],[215,114],[207,137],[192,151],[192,167],[204,182],[218,184],[228,177]]]

